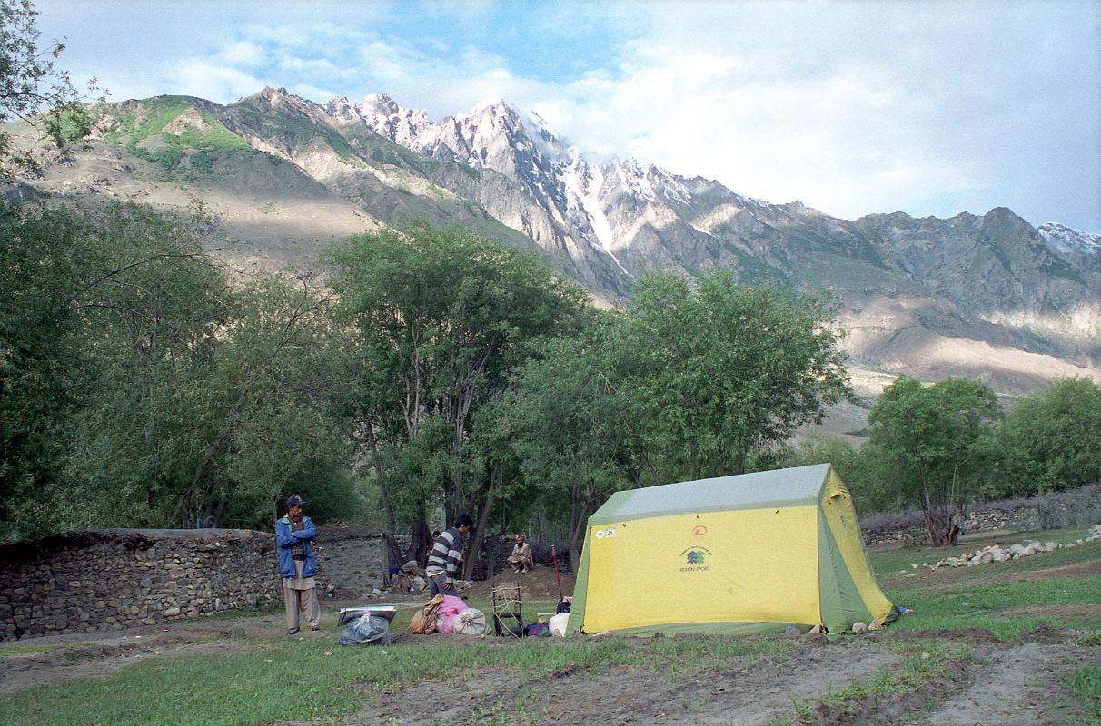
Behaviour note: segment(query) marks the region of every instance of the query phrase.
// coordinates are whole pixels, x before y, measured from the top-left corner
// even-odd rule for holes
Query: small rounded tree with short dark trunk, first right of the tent
[[[883,487],[916,499],[929,542],[951,544],[967,504],[989,465],[991,436],[1001,406],[990,386],[946,378],[931,386],[902,376],[869,414],[862,455]]]

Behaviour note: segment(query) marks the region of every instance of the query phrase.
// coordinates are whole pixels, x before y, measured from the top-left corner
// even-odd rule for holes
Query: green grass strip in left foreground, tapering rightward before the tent
[[[0,721],[20,724],[263,724],[334,718],[372,693],[453,673],[506,668],[528,679],[577,668],[626,664],[652,670],[729,667],[730,659],[783,652],[791,641],[708,636],[532,638],[424,645],[341,647],[330,637],[242,644],[227,656],[149,660],[102,679],[39,686],[0,697]],[[287,694],[308,694],[293,697]]]

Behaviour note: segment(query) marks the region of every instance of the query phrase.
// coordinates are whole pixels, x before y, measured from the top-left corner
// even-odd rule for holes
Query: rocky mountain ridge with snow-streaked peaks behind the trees
[[[329,240],[422,216],[537,250],[609,304],[657,268],[830,287],[854,362],[889,372],[1009,392],[1101,380],[1101,238],[1009,209],[842,220],[590,160],[503,102],[433,122],[383,95],[318,105],[268,88],[227,106],[157,97],[101,112],[97,143],[33,186],[199,199],[250,263],[315,264]]]

